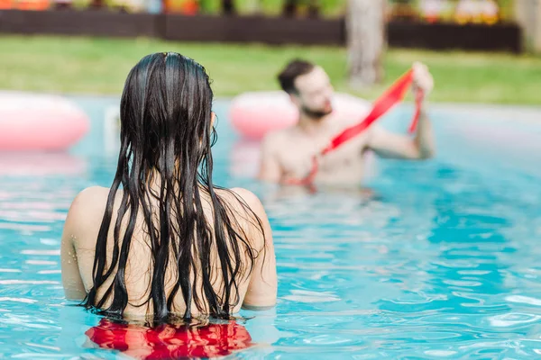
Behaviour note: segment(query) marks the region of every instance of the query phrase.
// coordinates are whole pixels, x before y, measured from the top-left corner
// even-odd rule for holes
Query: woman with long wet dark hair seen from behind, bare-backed
[[[87,188],[69,208],[67,298],[154,321],[274,306],[274,247],[261,202],[212,181],[212,101],[205,68],[190,58],[156,53],[133,67],[113,184]]]

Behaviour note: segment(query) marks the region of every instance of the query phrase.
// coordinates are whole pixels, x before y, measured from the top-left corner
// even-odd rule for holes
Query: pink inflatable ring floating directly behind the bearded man
[[[371,103],[350,94],[336,93],[334,114],[338,117],[362,119],[371,110]],[[281,91],[245,93],[231,103],[229,118],[235,130],[248,139],[261,139],[268,132],[295,125],[298,110],[289,95]]]

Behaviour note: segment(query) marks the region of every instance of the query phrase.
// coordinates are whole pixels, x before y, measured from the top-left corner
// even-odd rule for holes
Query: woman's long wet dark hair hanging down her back
[[[199,312],[216,318],[228,318],[238,304],[238,284],[252,271],[258,251],[235,218],[248,215],[244,220],[250,220],[261,234],[262,227],[238,196],[244,214],[234,213],[215,192],[212,101],[206,70],[191,58],[151,54],[130,71],[121,100],[118,166],[96,241],[94,284],[83,302],[87,309],[124,314],[129,301],[124,272],[139,211],[151,247],[151,284],[148,298],[130,305],[151,304],[150,315],[156,321],[175,314],[179,292],[186,304],[184,319],[191,317],[192,301]],[[159,184],[159,191],[151,189],[152,183]],[[112,259],[107,264],[107,235],[121,185],[124,193],[114,225]],[[203,211],[203,195],[212,207],[210,216]],[[127,226],[120,241],[124,217]],[[213,252],[219,264],[211,264]],[[165,274],[170,264],[176,267],[176,279],[168,296]],[[110,276],[113,282],[97,296]],[[220,289],[213,287],[216,279],[223,281]]]

